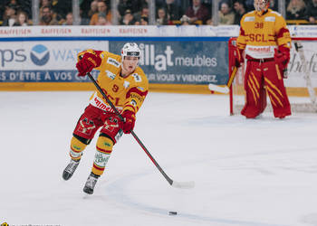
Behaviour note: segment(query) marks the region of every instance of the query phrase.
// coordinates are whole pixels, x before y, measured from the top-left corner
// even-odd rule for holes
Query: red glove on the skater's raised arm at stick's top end
[[[100,65],[100,57],[91,52],[86,52],[83,54],[82,59],[76,63],[76,68],[79,72],[78,76],[85,76],[88,72],[91,72],[92,69]]]

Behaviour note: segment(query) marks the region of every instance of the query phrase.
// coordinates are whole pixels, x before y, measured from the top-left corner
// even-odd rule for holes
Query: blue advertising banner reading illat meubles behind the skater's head
[[[227,42],[137,42],[150,83],[226,84]],[[124,42],[110,42],[118,52]]]

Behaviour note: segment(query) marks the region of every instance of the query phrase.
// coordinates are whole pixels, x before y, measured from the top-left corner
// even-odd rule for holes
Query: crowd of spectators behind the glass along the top
[[[32,25],[32,0],[2,0],[2,26]],[[254,0],[221,0],[217,9],[219,25],[240,24],[241,17],[254,10]],[[111,25],[116,14],[120,25],[149,25],[149,0],[119,0],[111,10],[110,0],[79,0],[81,25]],[[285,0],[288,24],[316,24],[317,0]],[[277,1],[270,8],[278,11]],[[212,0],[156,0],[156,25],[213,24]],[[39,25],[73,25],[72,0],[40,0]]]

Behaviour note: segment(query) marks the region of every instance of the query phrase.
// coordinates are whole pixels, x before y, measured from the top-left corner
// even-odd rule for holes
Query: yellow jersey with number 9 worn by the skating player
[[[101,65],[95,70],[100,71],[97,82],[119,112],[130,110],[137,113],[149,91],[149,81],[139,66],[128,77],[120,76],[121,56],[111,52],[95,52],[87,50],[78,54],[78,59],[85,52],[91,52],[101,58]],[[90,99],[92,106],[114,112],[99,90]]]

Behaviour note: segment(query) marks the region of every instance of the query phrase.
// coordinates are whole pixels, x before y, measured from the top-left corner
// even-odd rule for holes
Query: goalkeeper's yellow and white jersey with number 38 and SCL
[[[271,9],[252,11],[241,19],[237,48],[255,59],[273,58],[278,46],[291,48],[290,32],[283,16]]]

